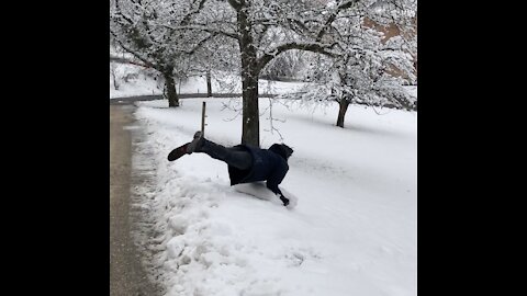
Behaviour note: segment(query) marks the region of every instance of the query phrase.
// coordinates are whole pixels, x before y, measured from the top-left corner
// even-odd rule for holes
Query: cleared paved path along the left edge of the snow
[[[130,212],[132,105],[110,105],[110,295],[156,296],[133,243]]]

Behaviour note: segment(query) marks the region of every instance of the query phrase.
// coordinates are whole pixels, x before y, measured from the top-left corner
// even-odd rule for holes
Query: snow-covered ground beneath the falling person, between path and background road
[[[206,155],[167,161],[201,128],[203,101],[205,137],[238,144],[239,99],[139,102],[135,113],[147,138],[134,166],[155,172],[135,190],[161,234],[167,295],[417,295],[416,112],[352,105],[339,128],[337,105],[273,101],[277,132],[260,99],[261,147],[294,148],[281,187],[298,205],[288,209],[229,186],[226,164]]]

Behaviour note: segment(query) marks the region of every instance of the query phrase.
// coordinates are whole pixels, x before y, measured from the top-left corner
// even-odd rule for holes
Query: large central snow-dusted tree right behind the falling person
[[[338,15],[352,13],[361,0],[201,0],[201,8],[186,25],[175,31],[217,33],[238,45],[242,92],[242,143],[259,146],[258,78],[277,56],[291,49],[332,55],[336,42],[326,38]]]

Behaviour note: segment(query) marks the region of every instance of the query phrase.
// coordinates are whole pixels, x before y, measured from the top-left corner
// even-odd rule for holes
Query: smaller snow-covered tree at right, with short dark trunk
[[[412,10],[395,7],[410,8],[408,2],[378,1],[366,7],[360,18],[336,20],[332,34],[338,36],[338,45],[334,55],[312,60],[307,78],[316,83],[301,94],[302,99],[337,102],[336,125],[340,127],[351,103],[413,110],[415,98],[402,84],[416,80],[416,33],[408,14]],[[365,20],[370,24],[365,25]],[[395,27],[397,33],[386,38],[383,25]]]

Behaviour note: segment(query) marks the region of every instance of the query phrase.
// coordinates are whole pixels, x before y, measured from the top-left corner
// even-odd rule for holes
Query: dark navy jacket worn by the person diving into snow
[[[267,181],[267,187],[274,194],[282,195],[278,184],[280,184],[288,173],[289,166],[287,157],[274,145],[269,149],[260,149],[249,145],[237,145],[238,149],[244,149],[253,156],[253,166],[247,170],[239,170],[228,166],[228,177],[231,185],[239,183],[251,183]]]

